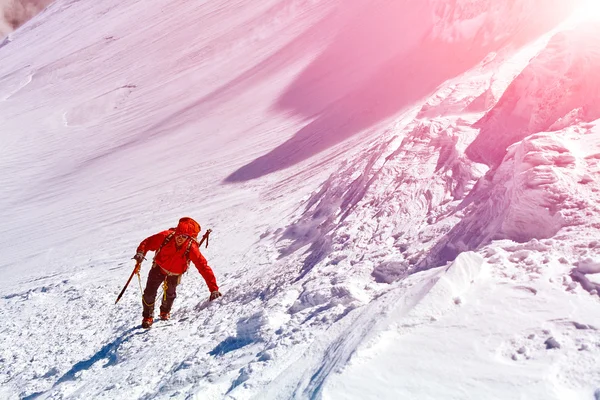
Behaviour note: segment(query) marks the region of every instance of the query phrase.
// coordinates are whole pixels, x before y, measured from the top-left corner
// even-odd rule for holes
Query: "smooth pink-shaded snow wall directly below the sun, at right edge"
[[[586,21],[552,37],[476,126],[470,158],[497,165],[524,137],[600,118],[600,24]]]

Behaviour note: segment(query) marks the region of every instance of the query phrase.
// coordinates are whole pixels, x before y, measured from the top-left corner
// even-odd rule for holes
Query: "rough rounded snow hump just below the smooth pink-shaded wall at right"
[[[585,155],[572,148],[572,131],[538,133],[509,148],[502,164],[482,177],[459,206],[466,215],[420,262],[425,268],[454,259],[494,239],[527,242],[582,225],[592,197]]]

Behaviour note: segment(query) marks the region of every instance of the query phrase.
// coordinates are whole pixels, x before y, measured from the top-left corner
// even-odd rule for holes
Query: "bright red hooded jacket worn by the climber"
[[[199,231],[200,226],[196,223],[196,221],[192,220],[191,218],[182,218],[179,221],[177,228],[171,228],[144,239],[138,246],[137,252],[146,255],[147,251],[157,251],[164,243],[167,236],[169,236],[171,233],[174,233],[169,242],[154,255],[154,262],[165,271],[180,275],[187,270],[188,260],[186,259],[185,252],[187,250],[189,241],[192,240],[188,258],[194,263],[198,269],[198,272],[200,272],[200,275],[202,275],[206,281],[208,289],[211,292],[214,292],[219,290],[215,274],[208,266],[204,256],[200,253],[198,243],[191,238],[195,238]],[[180,246],[177,246],[177,237],[181,235],[185,236],[185,241],[181,243]]]

